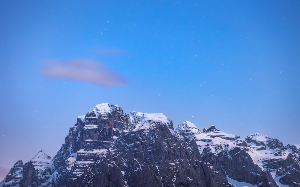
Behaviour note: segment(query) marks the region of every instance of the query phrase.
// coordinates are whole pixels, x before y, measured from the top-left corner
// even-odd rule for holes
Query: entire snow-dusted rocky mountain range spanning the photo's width
[[[262,134],[245,141],[162,113],[98,104],[78,116],[54,158],[17,161],[0,187],[300,186],[300,150]]]

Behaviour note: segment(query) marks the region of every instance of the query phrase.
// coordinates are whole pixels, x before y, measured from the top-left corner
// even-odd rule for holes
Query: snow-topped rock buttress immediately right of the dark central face
[[[180,132],[180,131],[179,131]],[[277,186],[271,175],[255,165],[248,154],[249,145],[239,136],[227,134],[215,126],[194,133],[190,139],[196,140],[203,162],[216,172],[241,182],[258,186]]]

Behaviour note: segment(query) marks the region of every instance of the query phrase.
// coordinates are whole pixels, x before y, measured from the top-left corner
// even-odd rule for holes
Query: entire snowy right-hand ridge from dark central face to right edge
[[[300,150],[295,146],[284,147],[279,140],[258,133],[247,136],[245,142],[239,136],[224,133],[214,126],[204,128],[203,133],[182,131],[180,127],[176,131],[190,141],[196,141],[203,161],[232,183],[300,186]]]

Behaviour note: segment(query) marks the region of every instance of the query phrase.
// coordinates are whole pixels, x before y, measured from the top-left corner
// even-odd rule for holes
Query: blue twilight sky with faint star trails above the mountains
[[[0,180],[100,103],[300,144],[298,0],[10,0],[0,23]]]

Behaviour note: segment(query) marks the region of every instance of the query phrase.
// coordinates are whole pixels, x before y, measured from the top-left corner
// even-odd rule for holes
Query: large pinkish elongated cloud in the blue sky
[[[91,59],[51,60],[44,64],[43,75],[49,78],[88,81],[101,86],[127,84],[124,77]]]

